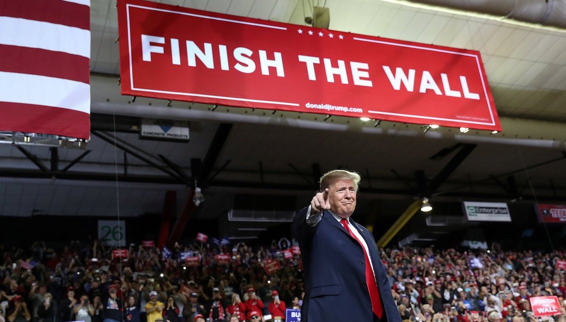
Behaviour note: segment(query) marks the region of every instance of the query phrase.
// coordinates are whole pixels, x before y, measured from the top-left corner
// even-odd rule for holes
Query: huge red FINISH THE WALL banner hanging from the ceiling
[[[122,94],[501,130],[478,51],[118,0]]]

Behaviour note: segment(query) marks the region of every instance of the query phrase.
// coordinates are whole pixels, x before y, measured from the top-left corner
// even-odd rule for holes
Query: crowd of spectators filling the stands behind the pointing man
[[[0,247],[0,322],[284,321],[305,296],[301,259],[285,256],[288,242],[130,245],[125,258],[97,242]],[[404,320],[566,321],[566,273],[557,268],[564,250],[405,247],[381,249],[380,257]],[[268,273],[266,260],[278,270]],[[544,295],[558,296],[559,312],[534,317],[529,298]]]

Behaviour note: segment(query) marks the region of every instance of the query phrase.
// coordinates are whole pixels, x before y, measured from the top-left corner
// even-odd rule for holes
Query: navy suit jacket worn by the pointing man
[[[293,219],[293,234],[299,241],[305,270],[301,322],[373,321],[362,246],[328,211],[324,211],[318,225],[307,225],[307,208],[299,210]],[[351,218],[350,223],[370,251],[383,304],[381,320],[401,322],[374,237]]]

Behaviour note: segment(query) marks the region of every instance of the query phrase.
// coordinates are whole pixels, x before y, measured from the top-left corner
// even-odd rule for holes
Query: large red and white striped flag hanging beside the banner
[[[90,0],[0,2],[0,130],[89,138]]]

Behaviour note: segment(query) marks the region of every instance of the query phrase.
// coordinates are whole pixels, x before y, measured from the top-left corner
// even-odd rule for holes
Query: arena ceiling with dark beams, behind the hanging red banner
[[[305,25],[313,5],[158,2],[298,25]],[[414,124],[122,96],[115,0],[96,0],[91,3],[91,140],[80,149],[0,144],[1,214],[157,214],[167,190],[177,192],[181,210],[195,178],[206,198],[193,214],[198,218],[226,216],[241,194],[293,196],[291,208],[300,208],[320,173],[333,168],[362,174],[362,216],[374,212],[395,219],[420,197],[525,207],[566,201],[565,29],[408,1],[314,5],[329,8],[329,29],[335,31],[480,51],[503,132],[424,133]],[[190,141],[141,140],[140,118],[188,120]]]

